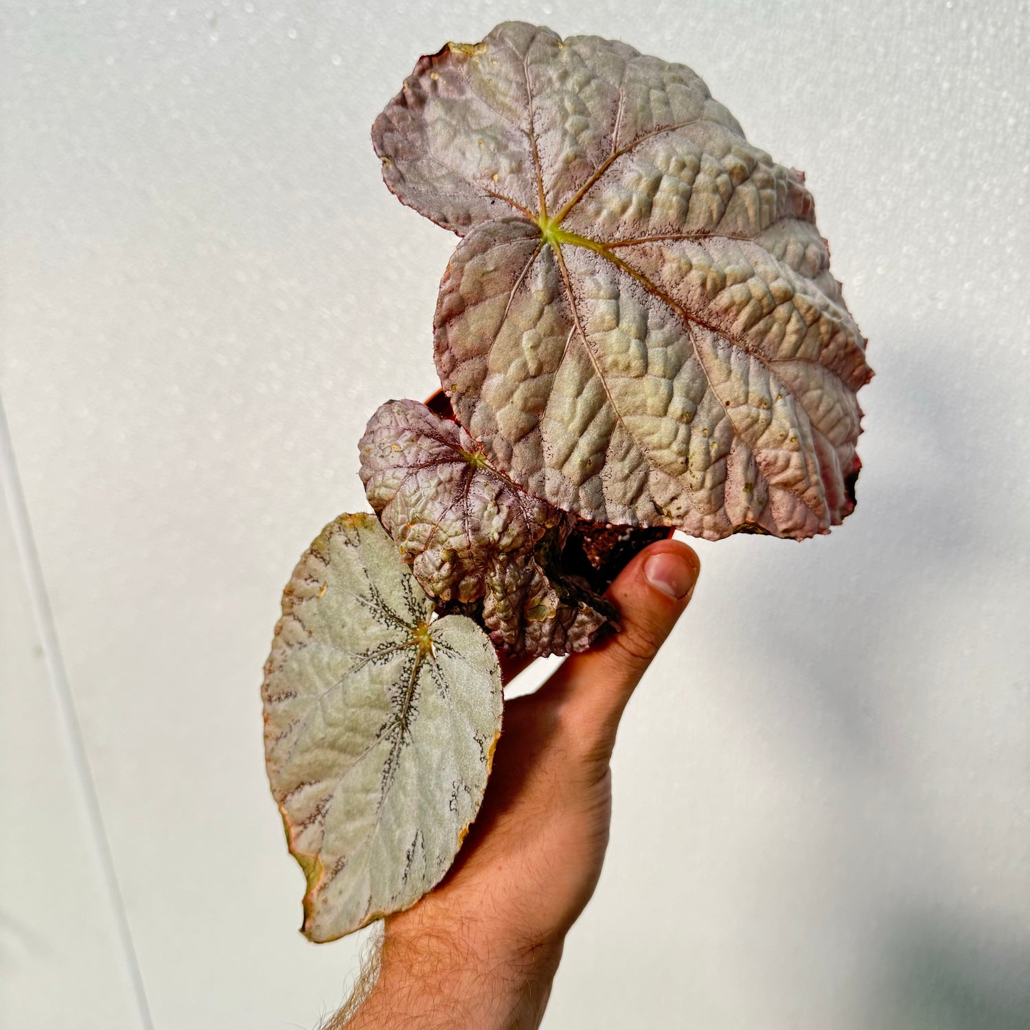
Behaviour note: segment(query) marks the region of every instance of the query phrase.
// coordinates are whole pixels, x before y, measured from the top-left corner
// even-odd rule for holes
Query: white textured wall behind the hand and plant
[[[845,526],[698,544],[545,1027],[1025,1028],[1025,0],[0,0],[0,1024],[145,1025],[55,645],[153,1025],[342,1000],[360,941],[297,933],[261,667],[296,559],[366,507],[366,419],[436,385],[455,240],[372,121],[512,16],[691,65],[804,169],[878,372]]]

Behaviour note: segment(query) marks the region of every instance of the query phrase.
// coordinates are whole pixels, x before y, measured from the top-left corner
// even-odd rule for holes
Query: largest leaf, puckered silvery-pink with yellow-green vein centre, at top
[[[853,509],[871,372],[812,196],[689,68],[507,23],[422,58],[373,140],[464,236],[437,367],[526,490],[710,539]]]

